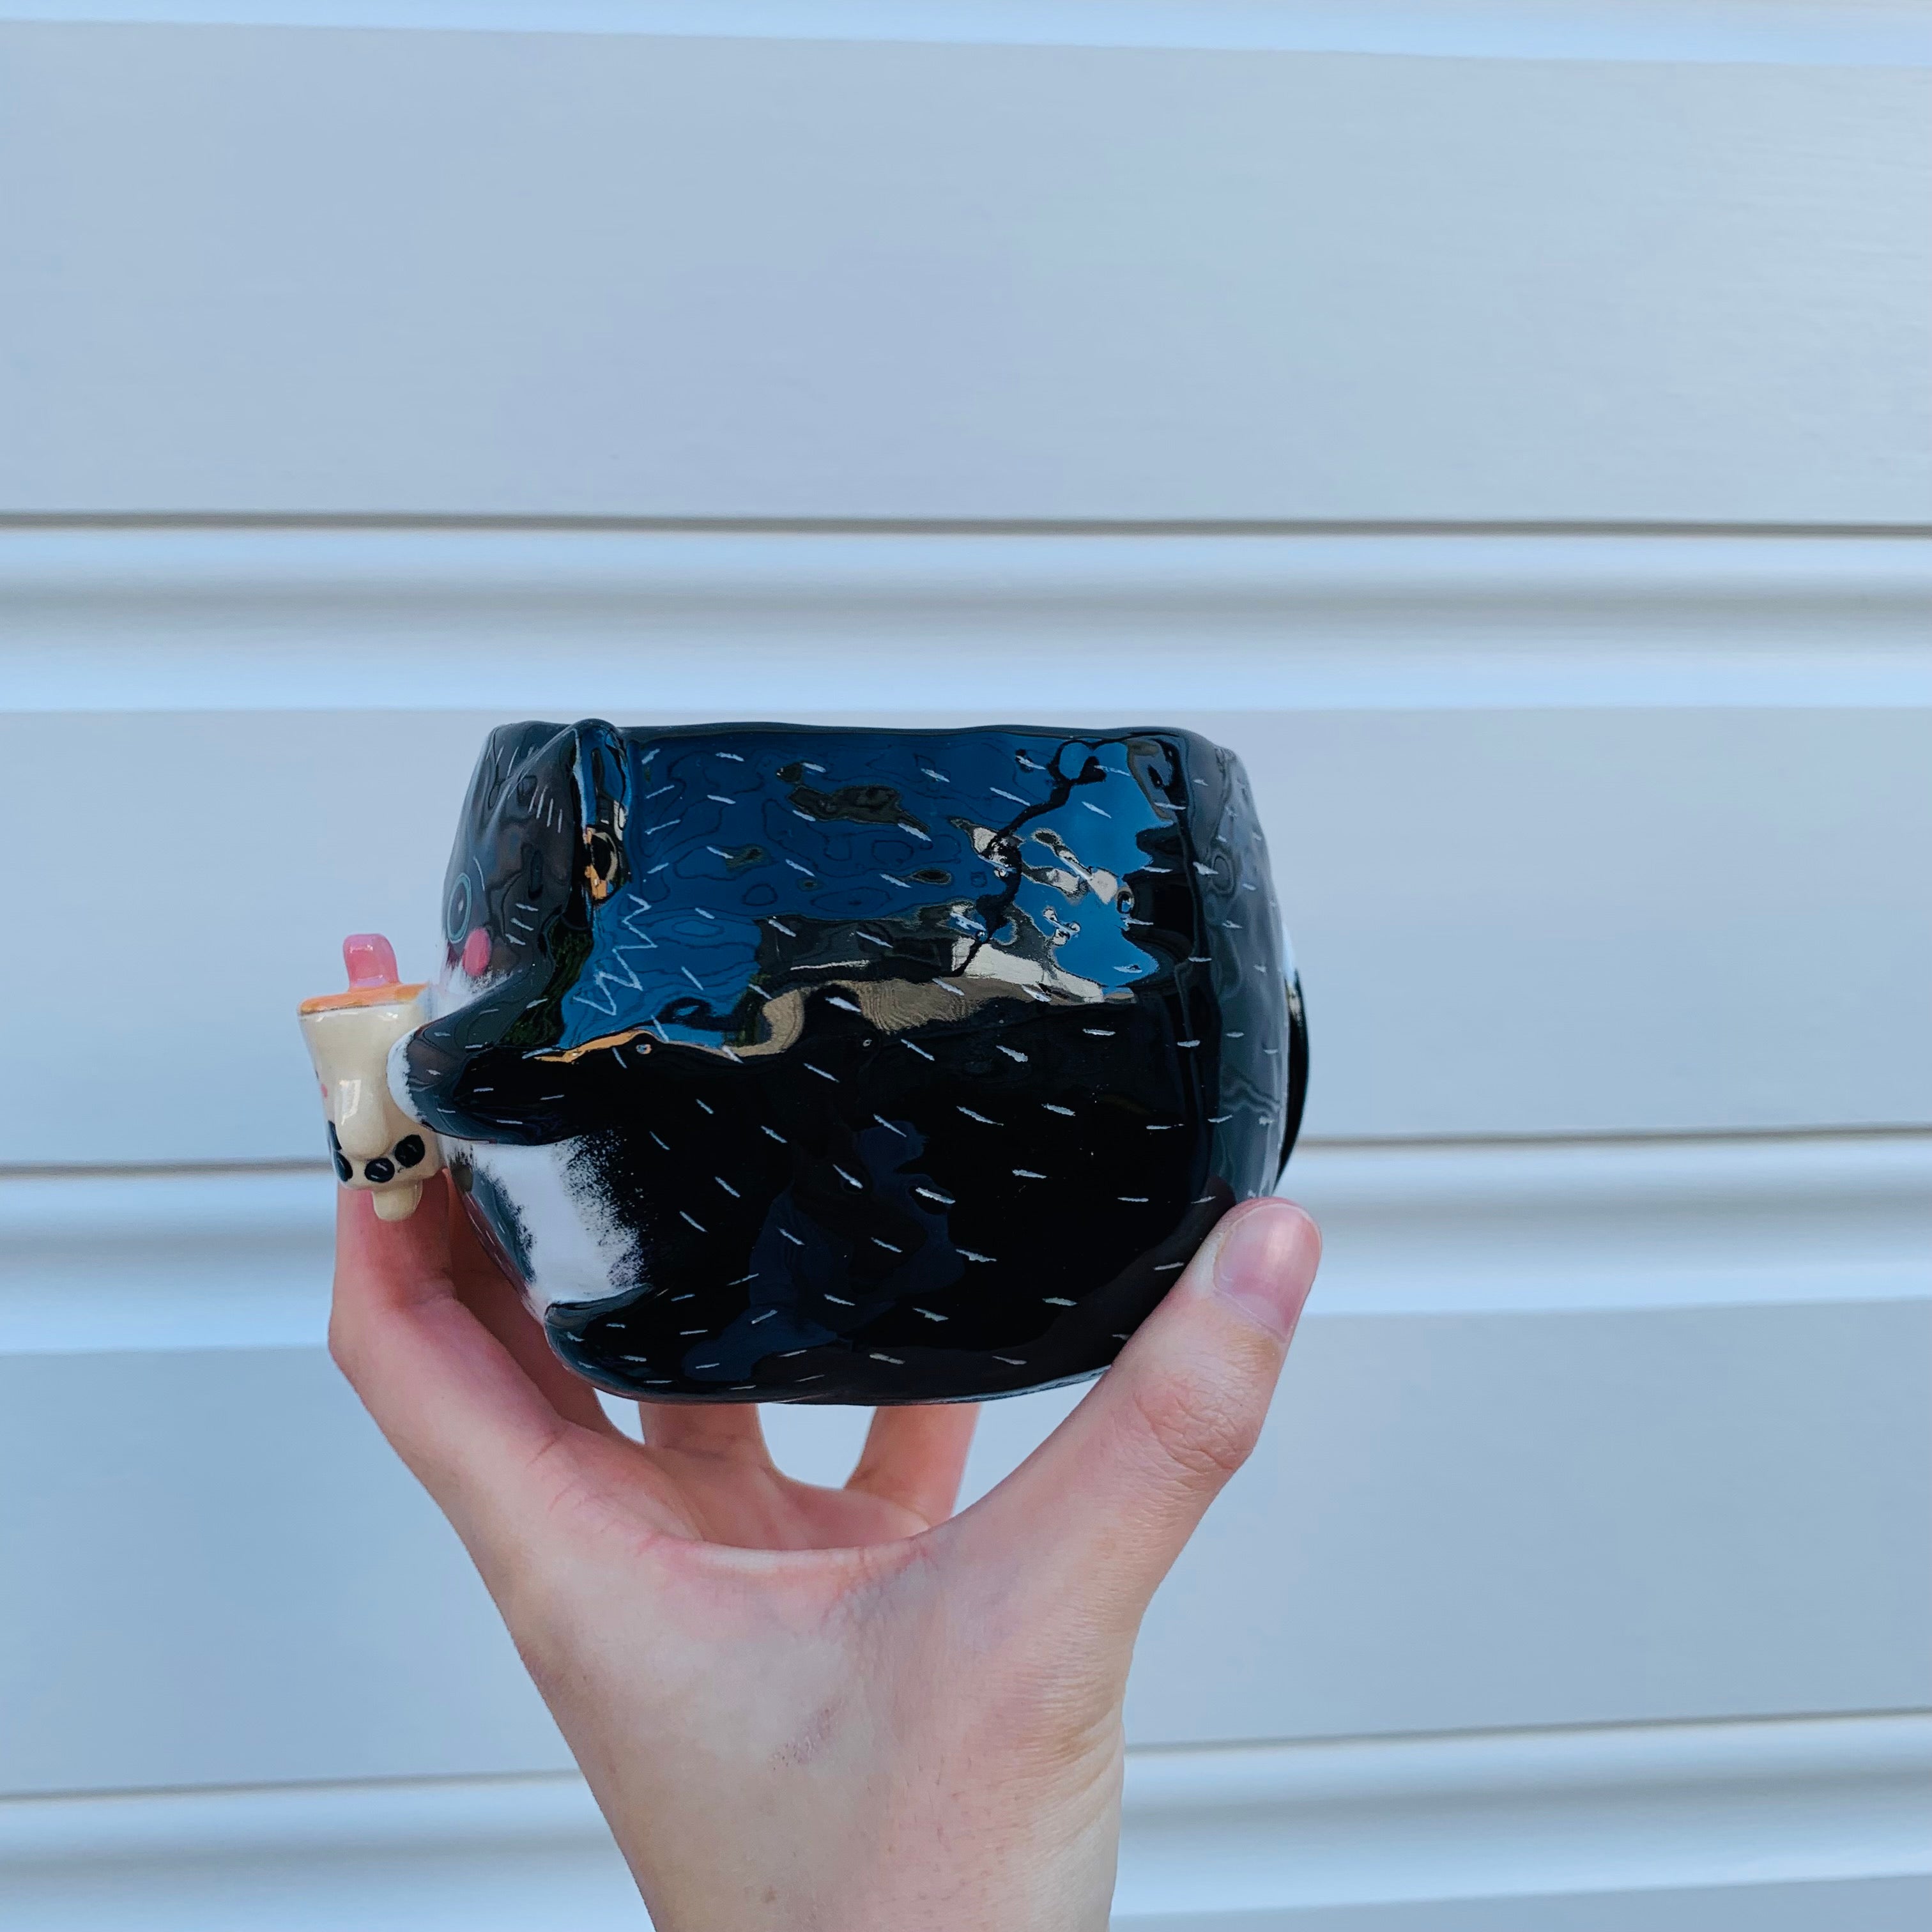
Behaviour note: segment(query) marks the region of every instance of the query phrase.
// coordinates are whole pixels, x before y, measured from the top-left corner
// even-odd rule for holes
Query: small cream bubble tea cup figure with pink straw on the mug
[[[305,999],[298,1009],[323,1084],[328,1151],[344,1186],[375,1194],[384,1221],[406,1221],[423,1198],[423,1182],[440,1173],[442,1150],[390,1095],[388,1053],[429,1020],[427,987],[398,981],[396,954],[379,933],[344,939],[342,958],[348,991]]]

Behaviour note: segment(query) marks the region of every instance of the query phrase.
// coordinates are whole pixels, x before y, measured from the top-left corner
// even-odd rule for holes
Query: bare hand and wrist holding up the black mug
[[[1061,1428],[952,1513],[968,1406],[883,1408],[842,1490],[752,1405],[551,1354],[435,1177],[338,1215],[330,1349],[442,1505],[659,1932],[1101,1932],[1155,1584],[1254,1447],[1320,1235],[1235,1208]]]

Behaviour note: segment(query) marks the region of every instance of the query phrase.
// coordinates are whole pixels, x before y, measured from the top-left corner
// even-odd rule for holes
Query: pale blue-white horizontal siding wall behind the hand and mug
[[[0,8],[0,1924],[641,1924],[290,1016],[582,713],[1250,763],[1329,1260],[1122,1926],[1922,1924],[1932,17],[554,23]]]

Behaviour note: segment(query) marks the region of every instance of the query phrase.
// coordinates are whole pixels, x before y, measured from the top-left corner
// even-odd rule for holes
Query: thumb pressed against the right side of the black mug
[[[1086,1401],[956,1519],[962,1553],[1136,1629],[1262,1434],[1320,1260],[1291,1202],[1229,1209]]]

